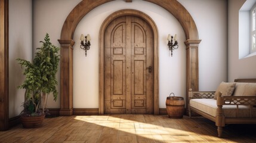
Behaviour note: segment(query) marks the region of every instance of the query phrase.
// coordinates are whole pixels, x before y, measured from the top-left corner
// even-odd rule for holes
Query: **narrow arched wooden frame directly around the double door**
[[[99,114],[104,114],[104,33],[106,31],[107,26],[113,20],[121,16],[135,16],[140,17],[144,21],[146,21],[153,32],[153,70],[154,70],[154,79],[153,79],[153,87],[154,87],[154,114],[159,114],[159,58],[158,58],[158,29],[156,27],[155,22],[149,15],[142,13],[138,10],[119,10],[113,14],[110,14],[106,20],[103,21],[103,24],[100,28],[99,34],[99,100],[98,100],[98,111]]]

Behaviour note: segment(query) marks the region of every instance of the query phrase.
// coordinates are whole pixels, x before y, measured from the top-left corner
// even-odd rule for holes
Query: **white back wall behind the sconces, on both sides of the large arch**
[[[60,2],[61,1],[61,2]],[[33,1],[33,48],[48,32],[57,46],[64,20],[79,0],[35,0]],[[199,38],[199,89],[215,90],[227,80],[227,7],[226,1],[179,0],[189,11],[198,26]],[[45,11],[45,8],[47,10]],[[98,108],[98,33],[104,19],[113,12],[132,8],[146,13],[155,21],[159,32],[159,104],[165,108],[170,92],[186,96],[186,50],[184,31],[168,11],[150,2],[134,0],[131,3],[118,0],[101,5],[90,11],[80,21],[74,33],[73,46],[73,106],[74,108]],[[79,48],[81,33],[91,35],[91,49],[87,57]],[[169,57],[166,46],[168,33],[177,33],[179,48]],[[218,70],[215,70],[218,69]],[[58,74],[59,78],[59,74]],[[59,80],[59,79],[58,79]],[[48,108],[59,108],[48,100]]]

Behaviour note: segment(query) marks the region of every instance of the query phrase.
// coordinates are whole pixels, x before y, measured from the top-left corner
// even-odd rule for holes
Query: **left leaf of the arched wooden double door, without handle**
[[[125,22],[116,18],[104,33],[104,112],[125,114]]]

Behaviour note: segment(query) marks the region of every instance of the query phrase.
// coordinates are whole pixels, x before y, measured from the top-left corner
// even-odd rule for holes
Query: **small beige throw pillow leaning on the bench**
[[[234,92],[235,82],[221,82],[214,94],[214,100],[217,100],[218,92],[221,92],[223,96],[231,96]]]

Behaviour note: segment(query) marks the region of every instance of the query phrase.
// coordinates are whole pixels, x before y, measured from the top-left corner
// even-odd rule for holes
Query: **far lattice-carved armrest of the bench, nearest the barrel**
[[[192,91],[189,89],[189,100],[200,98],[214,98],[215,91]]]

